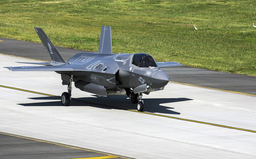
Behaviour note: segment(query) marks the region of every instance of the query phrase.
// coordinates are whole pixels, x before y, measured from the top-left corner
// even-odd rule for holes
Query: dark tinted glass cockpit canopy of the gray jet
[[[138,67],[157,67],[153,57],[147,53],[135,53],[133,55],[132,64]]]

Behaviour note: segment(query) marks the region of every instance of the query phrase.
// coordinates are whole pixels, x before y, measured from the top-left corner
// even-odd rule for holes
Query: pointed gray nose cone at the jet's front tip
[[[154,87],[163,87],[166,86],[170,81],[170,77],[163,71],[156,71],[152,78],[155,78],[155,86]]]

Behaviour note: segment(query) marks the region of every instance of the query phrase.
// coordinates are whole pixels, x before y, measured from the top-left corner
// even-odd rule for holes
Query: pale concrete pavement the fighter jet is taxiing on
[[[59,74],[12,72],[3,67],[38,61],[0,59],[1,132],[131,158],[256,158],[256,97],[168,83],[143,95],[139,113],[126,97],[96,98],[73,86],[63,107]]]

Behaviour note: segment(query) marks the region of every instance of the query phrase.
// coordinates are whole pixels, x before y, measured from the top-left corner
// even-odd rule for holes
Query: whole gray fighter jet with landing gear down
[[[181,66],[178,62],[156,62],[147,53],[112,53],[111,28],[102,26],[98,53],[81,52],[65,61],[42,28],[35,27],[51,62],[18,62],[44,66],[5,67],[11,71],[55,71],[61,75],[68,92],[61,95],[63,106],[69,106],[71,84],[97,97],[125,95],[143,111],[142,93],[163,90],[170,78],[160,67]]]

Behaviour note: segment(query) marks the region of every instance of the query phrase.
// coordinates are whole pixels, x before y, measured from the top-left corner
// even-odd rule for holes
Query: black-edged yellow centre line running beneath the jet
[[[15,90],[21,90],[21,91],[24,91],[24,92],[31,92],[31,93],[36,93],[36,94],[41,94],[41,95],[46,95],[46,96],[51,96],[51,97],[59,97],[59,96],[56,96],[56,95],[50,95],[50,94],[45,94],[45,93],[40,93],[40,92],[34,92],[34,91],[24,90],[24,89],[19,89],[19,88],[14,88],[14,87],[8,87],[8,86],[2,86],[2,85],[0,85],[0,87],[10,88],[10,89],[15,89]],[[230,129],[235,129],[235,130],[242,130],[242,131],[256,133],[255,130],[248,130],[248,129],[243,129],[243,128],[229,127],[229,126],[225,126],[225,125],[219,125],[219,124],[214,124],[214,123],[207,123],[207,122],[203,122],[203,121],[196,121],[196,120],[190,120],[190,119],[184,119],[184,118],[177,118],[177,117],[174,117],[174,116],[166,116],[166,115],[154,114],[154,113],[148,113],[148,112],[139,112],[139,111],[135,111],[135,110],[131,110],[131,109],[123,109],[123,108],[118,108],[118,107],[114,107],[114,106],[107,106],[107,105],[104,105],[104,104],[85,102],[83,100],[77,100],[77,99],[73,99],[73,100],[74,101],[78,101],[78,102],[84,102],[84,103],[104,106],[104,107],[110,107],[110,108],[115,108],[115,109],[132,111],[132,112],[136,112],[136,113],[150,114],[150,115],[161,116],[161,117],[165,117],[165,118],[172,118],[172,119],[178,119],[178,120],[183,120],[183,121],[190,121],[190,122],[194,122],[194,123],[201,123],[201,124],[206,124],[206,125],[213,125],[213,126],[217,126],[217,127],[230,128]]]

